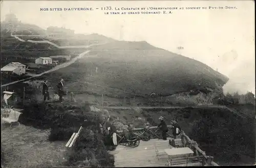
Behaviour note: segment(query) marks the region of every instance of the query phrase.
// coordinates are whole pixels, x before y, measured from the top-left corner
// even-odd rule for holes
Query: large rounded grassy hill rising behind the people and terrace
[[[199,61],[156,48],[145,41],[114,41],[95,46],[84,59],[49,76],[53,80],[62,76],[72,91],[95,91],[120,97],[213,90],[228,81],[227,77]],[[105,88],[96,89],[95,85],[86,83]],[[113,92],[113,88],[122,91]]]

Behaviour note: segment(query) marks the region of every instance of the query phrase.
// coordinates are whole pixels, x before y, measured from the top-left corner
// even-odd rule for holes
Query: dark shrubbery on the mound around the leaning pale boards
[[[109,155],[103,143],[103,137],[97,133],[98,114],[90,112],[89,104],[82,107],[58,105],[54,103],[32,103],[26,106],[20,117],[20,123],[41,129],[51,128],[50,141],[68,140],[80,126],[84,129],[69,153],[68,165],[90,167],[113,167],[114,157]],[[78,113],[69,112],[77,110]],[[104,111],[106,113],[106,111]]]

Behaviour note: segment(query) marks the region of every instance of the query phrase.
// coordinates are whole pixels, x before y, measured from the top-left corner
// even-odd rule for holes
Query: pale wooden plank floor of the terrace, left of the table
[[[162,139],[151,139],[149,141],[140,141],[140,145],[136,148],[130,148],[119,145],[115,151],[111,151],[115,156],[115,167],[152,167],[152,166],[168,166],[168,157],[160,156],[156,158],[154,143],[156,141],[164,141]],[[166,146],[166,144],[165,144]]]

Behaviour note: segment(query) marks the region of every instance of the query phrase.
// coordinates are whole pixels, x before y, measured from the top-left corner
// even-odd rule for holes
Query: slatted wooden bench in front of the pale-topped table
[[[169,166],[204,166],[203,156],[178,157],[168,160]]]

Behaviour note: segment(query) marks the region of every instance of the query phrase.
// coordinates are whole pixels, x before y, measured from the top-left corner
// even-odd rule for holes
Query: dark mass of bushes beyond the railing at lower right
[[[217,153],[229,150],[225,159],[231,162],[234,156],[238,158],[240,154],[255,156],[255,134],[251,131],[254,128],[252,118],[240,117],[228,110],[205,110],[201,119],[194,122],[190,138],[203,145],[202,150],[208,154],[212,149]],[[219,161],[222,159],[217,158]]]

